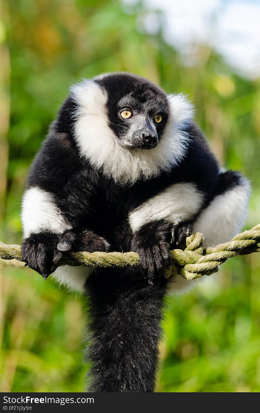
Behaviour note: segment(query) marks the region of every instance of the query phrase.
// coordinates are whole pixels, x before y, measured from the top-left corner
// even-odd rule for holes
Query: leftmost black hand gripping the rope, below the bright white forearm
[[[62,254],[57,249],[58,235],[53,233],[31,234],[21,244],[23,261],[43,278],[55,271]]]

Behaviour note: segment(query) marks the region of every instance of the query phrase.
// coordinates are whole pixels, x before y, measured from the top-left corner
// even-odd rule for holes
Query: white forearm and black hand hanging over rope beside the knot
[[[173,224],[191,220],[203,204],[204,195],[192,183],[176,183],[148,199],[129,214],[134,233],[131,250],[140,256],[150,284],[169,266],[169,232]]]

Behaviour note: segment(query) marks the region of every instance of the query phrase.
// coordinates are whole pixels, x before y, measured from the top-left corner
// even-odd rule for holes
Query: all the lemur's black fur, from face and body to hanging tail
[[[162,121],[154,125],[160,145],[171,110],[160,88],[129,74],[110,74],[93,82],[107,94],[107,123],[115,138],[124,139],[126,128],[134,122],[134,117],[129,123],[120,118],[118,102],[122,101],[123,106],[137,114],[145,107],[149,119],[158,112],[162,114]],[[168,283],[162,273],[171,262],[169,244],[182,244],[200,211],[217,195],[241,185],[243,178],[236,172],[219,172],[202,133],[188,120],[181,124],[188,136],[186,150],[176,164],[149,178],[140,175],[134,182],[115,180],[102,168],[95,168],[87,154],[82,155],[74,129],[78,107],[75,97],[70,95],[28,178],[29,189],[37,187],[51,194],[69,228],[57,233],[40,223],[36,233],[30,231],[26,235],[22,256],[31,268],[47,278],[55,270],[61,251],[138,252],[140,268],[99,268],[86,280],[93,335],[87,351],[93,362],[89,389],[152,392]],[[132,150],[141,150],[138,145]],[[133,230],[129,223],[131,211],[178,183],[192,184],[202,194],[200,210],[188,222],[152,219]]]

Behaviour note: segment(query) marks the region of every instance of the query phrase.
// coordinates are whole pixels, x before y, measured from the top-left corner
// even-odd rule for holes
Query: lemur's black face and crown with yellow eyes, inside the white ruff
[[[98,80],[107,92],[109,126],[127,148],[157,146],[169,115],[167,96],[148,80],[113,74]]]

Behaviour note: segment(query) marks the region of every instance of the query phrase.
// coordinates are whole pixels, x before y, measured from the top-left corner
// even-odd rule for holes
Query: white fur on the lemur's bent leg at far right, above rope
[[[243,227],[248,210],[250,184],[246,178],[241,185],[215,197],[193,225],[203,233],[204,247],[230,241]]]

